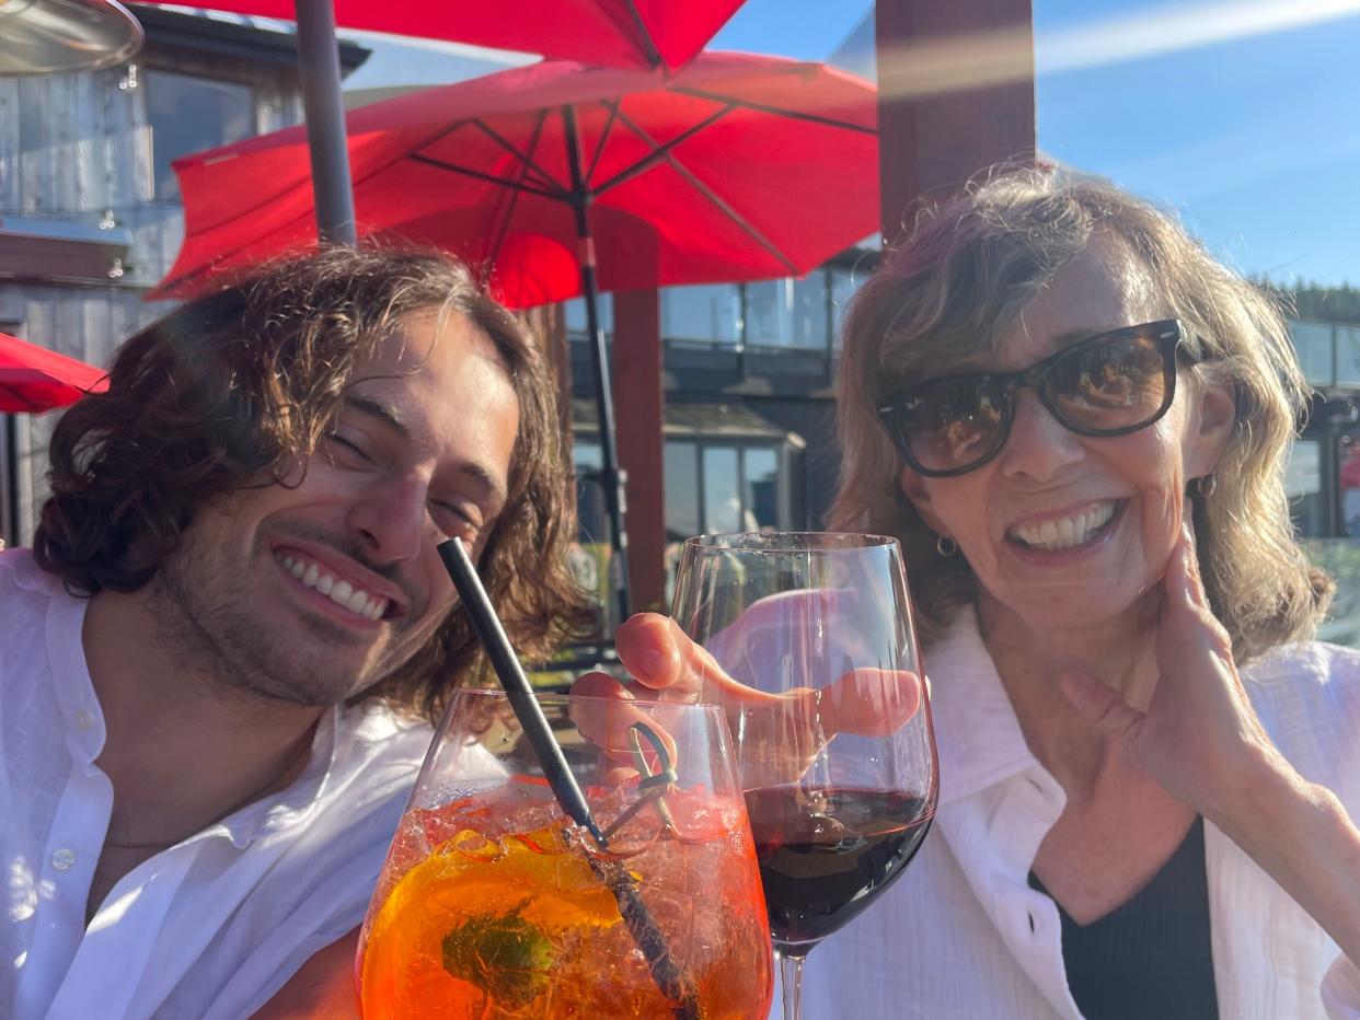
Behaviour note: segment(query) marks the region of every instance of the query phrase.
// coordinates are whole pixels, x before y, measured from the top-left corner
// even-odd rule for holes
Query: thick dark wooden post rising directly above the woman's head
[[[879,0],[879,165],[891,243],[922,196],[1032,159],[1031,0]]]

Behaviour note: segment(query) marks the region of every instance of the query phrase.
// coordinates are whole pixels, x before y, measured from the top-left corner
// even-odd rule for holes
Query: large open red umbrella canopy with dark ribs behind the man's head
[[[348,136],[359,234],[494,267],[517,306],[581,292],[581,209],[604,290],[802,275],[879,218],[873,87],[779,57],[536,64],[354,110]],[[154,296],[316,245],[301,128],[174,166],[186,237]]]

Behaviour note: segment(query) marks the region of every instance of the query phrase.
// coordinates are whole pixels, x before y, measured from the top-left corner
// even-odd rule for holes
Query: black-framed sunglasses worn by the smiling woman
[[[884,398],[879,418],[902,458],[926,477],[981,468],[1006,445],[1016,392],[1032,388],[1078,435],[1146,428],[1176,396],[1180,324],[1123,326],[1065,347],[1023,371],[930,379]]]

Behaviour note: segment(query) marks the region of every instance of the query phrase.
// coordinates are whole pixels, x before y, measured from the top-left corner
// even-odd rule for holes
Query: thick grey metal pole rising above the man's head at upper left
[[[298,75],[311,148],[311,192],[321,242],[354,245],[354,185],[344,133],[344,97],[340,92],[340,50],[336,12],[330,0],[296,0]]]

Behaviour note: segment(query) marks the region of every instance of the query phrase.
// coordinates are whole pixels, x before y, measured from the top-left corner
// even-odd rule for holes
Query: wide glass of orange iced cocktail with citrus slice
[[[722,711],[539,703],[601,836],[563,813],[506,695],[456,691],[360,933],[364,1019],[764,1020],[770,929]]]

